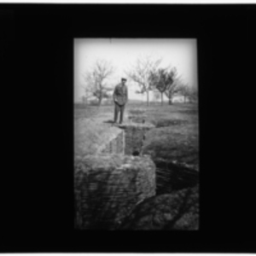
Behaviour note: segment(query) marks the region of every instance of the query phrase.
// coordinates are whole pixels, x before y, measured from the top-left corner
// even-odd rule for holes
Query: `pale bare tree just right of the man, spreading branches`
[[[147,105],[149,105],[149,91],[153,90],[154,84],[150,79],[150,74],[154,73],[160,65],[161,59],[152,60],[149,56],[137,58],[135,66],[126,71],[126,75],[136,82],[140,87],[140,93],[147,93]]]

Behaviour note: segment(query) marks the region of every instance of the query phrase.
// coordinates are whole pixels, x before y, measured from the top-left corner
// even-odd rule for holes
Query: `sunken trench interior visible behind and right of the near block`
[[[133,117],[127,125],[119,125],[120,133],[102,150],[104,154],[143,155],[143,143],[150,129],[157,129],[142,117]],[[199,172],[174,160],[152,159],[154,161],[156,195],[168,194],[174,190],[193,187],[199,181]]]

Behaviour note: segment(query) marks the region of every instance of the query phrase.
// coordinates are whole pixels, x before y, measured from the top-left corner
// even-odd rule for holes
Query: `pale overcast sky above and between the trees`
[[[115,67],[113,76],[106,80],[109,87],[126,78],[125,70],[135,65],[137,57],[162,58],[160,67],[177,67],[177,73],[190,86],[197,86],[196,39],[118,39],[77,38],[74,39],[74,101],[80,102],[85,85],[82,74],[88,71],[97,59],[111,61]],[[135,93],[138,85],[127,80],[129,98],[141,99]]]

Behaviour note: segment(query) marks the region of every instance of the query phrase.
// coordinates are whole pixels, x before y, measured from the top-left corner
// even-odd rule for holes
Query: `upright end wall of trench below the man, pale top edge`
[[[154,125],[148,123],[130,123],[119,125],[119,128],[125,131],[125,154],[131,155],[135,152],[137,154],[141,153],[146,132],[154,128]]]

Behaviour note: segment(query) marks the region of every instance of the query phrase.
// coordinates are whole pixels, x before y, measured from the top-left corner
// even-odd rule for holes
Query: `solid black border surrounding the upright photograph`
[[[31,121],[31,116],[20,117],[20,122],[26,122],[27,127],[37,127],[36,131],[22,130],[27,134],[26,143],[32,143],[37,150],[30,153],[31,164],[20,175],[24,182],[15,187],[26,200],[10,207],[7,218],[16,219],[15,208],[26,210],[19,213],[22,221],[16,219],[4,226],[3,251],[240,253],[253,250],[253,237],[248,234],[247,226],[237,222],[242,209],[234,213],[231,208],[236,205],[231,191],[237,180],[232,177],[230,181],[230,175],[237,172],[230,170],[234,154],[230,157],[226,152],[231,152],[233,137],[228,127],[235,115],[229,112],[226,98],[230,90],[224,86],[237,83],[232,74],[236,61],[243,63],[245,60],[241,45],[247,48],[248,35],[252,33],[253,5],[3,4],[0,8],[8,10],[10,20],[14,20],[14,24],[8,23],[8,31],[14,30],[14,33],[7,33],[7,41],[15,47],[19,39],[20,77],[26,79],[27,70],[30,73],[26,86],[20,89],[21,95],[26,97],[26,101],[22,99],[22,106],[29,109],[32,103],[36,104],[37,116],[41,118]],[[201,159],[199,231],[109,233],[73,229],[74,38],[197,39]],[[219,81],[222,95],[216,104],[212,88]],[[35,93],[37,99],[32,97]],[[225,112],[229,112],[228,119]],[[218,122],[214,118],[217,113]],[[38,138],[37,143],[33,137]],[[218,160],[214,160],[215,154]],[[38,156],[44,156],[40,164]],[[37,166],[36,172],[32,166]],[[206,169],[207,172],[203,172]],[[216,172],[221,172],[221,178]]]

